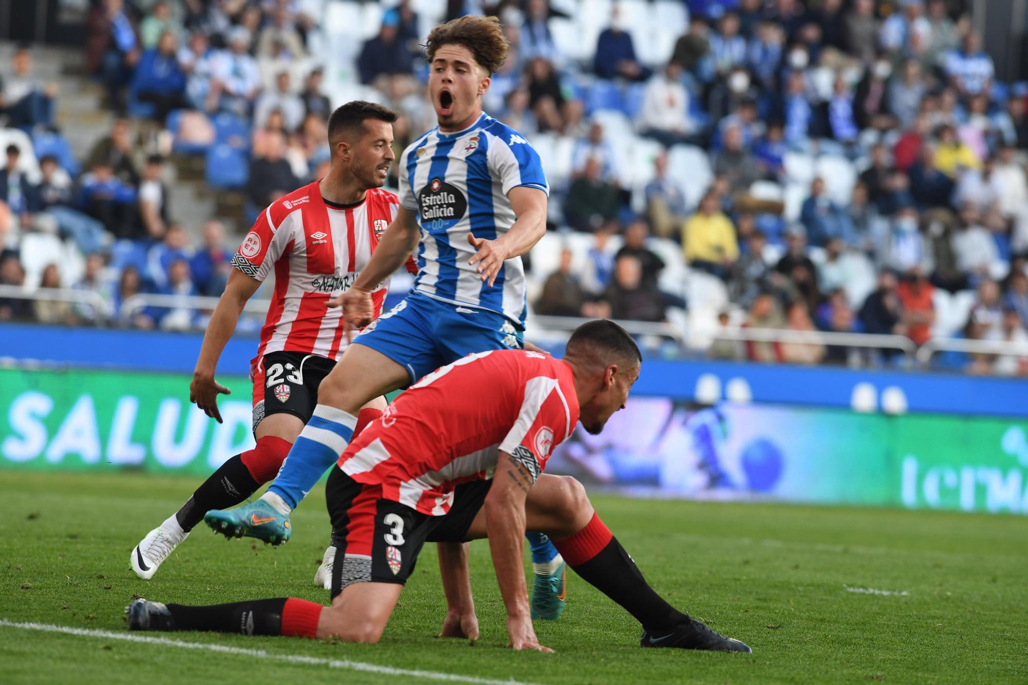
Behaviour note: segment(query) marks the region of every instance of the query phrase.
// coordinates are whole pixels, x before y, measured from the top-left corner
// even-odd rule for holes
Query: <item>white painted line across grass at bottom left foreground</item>
[[[135,635],[133,633],[114,633],[112,630],[95,630],[90,628],[76,628],[69,625],[53,625],[51,623],[23,623],[0,618],[0,627],[12,627],[23,630],[41,630],[43,633],[63,633],[65,635],[77,635],[85,638],[104,638],[106,640],[122,640],[124,642],[141,642],[148,645],[163,645],[166,647],[181,647],[184,649],[198,649],[208,652],[218,652],[221,654],[237,654],[240,656],[250,656],[259,659],[269,659],[272,661],[285,661],[287,663],[300,663],[303,665],[320,665],[330,669],[345,669],[348,671],[363,671],[365,673],[377,673],[383,676],[406,676],[411,678],[425,678],[428,680],[441,680],[451,683],[476,683],[477,685],[530,685],[514,680],[489,680],[488,678],[475,678],[474,676],[460,676],[451,673],[438,673],[435,671],[414,671],[410,669],[394,669],[393,666],[378,665],[377,663],[365,663],[363,661],[351,661],[350,659],[323,659],[315,656],[300,656],[298,654],[274,654],[263,649],[248,649],[245,647],[229,647],[227,645],[205,644],[201,642],[182,642],[180,640],[170,640],[168,638],[153,638],[145,635]]]

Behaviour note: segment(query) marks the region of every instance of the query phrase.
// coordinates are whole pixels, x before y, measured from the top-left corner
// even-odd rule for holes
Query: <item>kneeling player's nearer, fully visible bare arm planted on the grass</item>
[[[539,644],[531,626],[528,588],[524,582],[524,503],[535,484],[531,473],[506,452],[500,452],[492,486],[485,498],[485,520],[489,550],[497,570],[500,593],[507,607],[507,633],[514,649],[552,652]]]

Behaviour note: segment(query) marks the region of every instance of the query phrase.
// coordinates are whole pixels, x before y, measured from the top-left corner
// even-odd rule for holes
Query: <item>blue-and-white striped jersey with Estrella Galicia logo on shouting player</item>
[[[400,158],[400,204],[417,213],[414,290],[429,297],[504,315],[524,327],[521,257],[504,262],[495,284],[468,263],[468,233],[494,240],[514,224],[507,193],[528,186],[549,194],[539,154],[519,133],[483,113],[469,129],[421,136]]]

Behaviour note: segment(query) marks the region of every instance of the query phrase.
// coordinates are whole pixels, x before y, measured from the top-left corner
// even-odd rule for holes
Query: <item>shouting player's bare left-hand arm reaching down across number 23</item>
[[[343,308],[343,319],[354,326],[367,326],[371,323],[374,319],[371,291],[403,265],[417,247],[420,235],[417,217],[412,211],[401,206],[397,210],[396,218],[378,241],[375,253],[371,255],[367,266],[357,277],[354,285],[329,301],[328,305]]]

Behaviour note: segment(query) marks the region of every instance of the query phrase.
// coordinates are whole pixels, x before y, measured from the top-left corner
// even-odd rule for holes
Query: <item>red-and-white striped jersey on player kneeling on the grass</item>
[[[480,352],[397,396],[338,464],[358,482],[380,484],[383,498],[439,516],[458,483],[492,477],[501,449],[539,478],[578,419],[566,363],[523,350]]]

